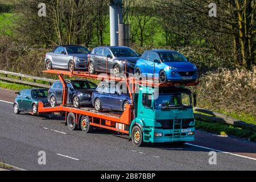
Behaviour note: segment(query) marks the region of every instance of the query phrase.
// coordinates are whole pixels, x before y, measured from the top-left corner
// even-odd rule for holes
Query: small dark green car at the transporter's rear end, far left
[[[38,103],[48,104],[47,89],[26,89],[16,92],[18,96],[14,102],[14,113],[19,114],[21,111],[32,111],[33,114],[38,113]],[[48,104],[49,105],[49,104]]]

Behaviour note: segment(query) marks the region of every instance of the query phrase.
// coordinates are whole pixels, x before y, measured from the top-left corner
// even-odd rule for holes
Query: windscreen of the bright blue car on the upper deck
[[[163,62],[187,62],[185,56],[179,52],[160,52],[161,60]]]

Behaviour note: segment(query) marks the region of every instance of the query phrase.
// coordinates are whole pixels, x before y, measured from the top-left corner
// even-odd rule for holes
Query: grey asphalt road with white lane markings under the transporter
[[[197,131],[196,141],[135,147],[126,135],[70,131],[62,118],[15,115],[14,93],[0,90],[0,161],[26,170],[256,170],[256,143]],[[209,151],[217,164],[209,164]],[[39,151],[46,165],[38,164]]]

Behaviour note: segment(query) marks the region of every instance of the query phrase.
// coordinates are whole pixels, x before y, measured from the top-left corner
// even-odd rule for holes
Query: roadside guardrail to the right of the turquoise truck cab
[[[199,121],[201,119],[207,119],[208,121],[220,122],[220,123],[224,123],[224,124],[228,124],[228,125],[233,125],[235,127],[256,129],[256,125],[228,117],[227,115],[224,115],[221,113],[217,113],[217,112],[206,110],[206,109],[201,109],[199,107],[195,107],[194,111],[198,112],[198,113],[194,113],[194,115],[195,115],[195,118]],[[200,113],[202,113],[202,114],[200,114]],[[205,115],[205,114],[207,114],[207,115]]]

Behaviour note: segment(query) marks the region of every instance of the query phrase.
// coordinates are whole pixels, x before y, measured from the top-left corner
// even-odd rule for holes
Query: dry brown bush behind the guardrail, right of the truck
[[[246,69],[220,68],[200,78],[196,88],[199,107],[229,113],[247,113],[256,118],[256,67]]]

